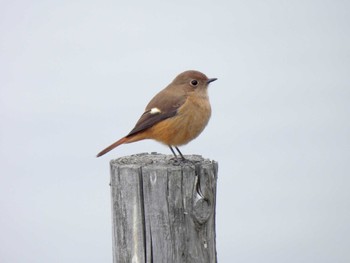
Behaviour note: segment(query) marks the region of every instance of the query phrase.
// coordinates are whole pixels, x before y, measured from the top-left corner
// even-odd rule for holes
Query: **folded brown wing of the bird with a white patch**
[[[144,131],[158,122],[176,115],[177,110],[185,103],[185,92],[173,89],[164,89],[159,92],[147,105],[135,127],[126,136]]]

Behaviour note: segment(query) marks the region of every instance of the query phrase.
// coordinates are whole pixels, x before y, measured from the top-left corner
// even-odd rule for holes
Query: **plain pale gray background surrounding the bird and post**
[[[112,262],[109,160],[95,154],[196,69],[219,162],[220,262],[350,262],[348,1],[0,4],[0,261]]]

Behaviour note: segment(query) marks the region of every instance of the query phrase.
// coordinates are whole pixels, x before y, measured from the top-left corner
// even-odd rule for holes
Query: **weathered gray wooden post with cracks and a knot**
[[[214,263],[218,164],[198,155],[112,160],[114,263]]]

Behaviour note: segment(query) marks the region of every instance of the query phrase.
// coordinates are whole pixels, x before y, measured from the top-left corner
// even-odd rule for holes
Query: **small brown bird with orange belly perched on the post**
[[[148,103],[131,132],[102,150],[97,157],[124,143],[154,139],[168,145],[177,159],[175,147],[185,160],[178,146],[196,138],[207,125],[211,115],[207,88],[215,80],[195,70],[179,74]]]

